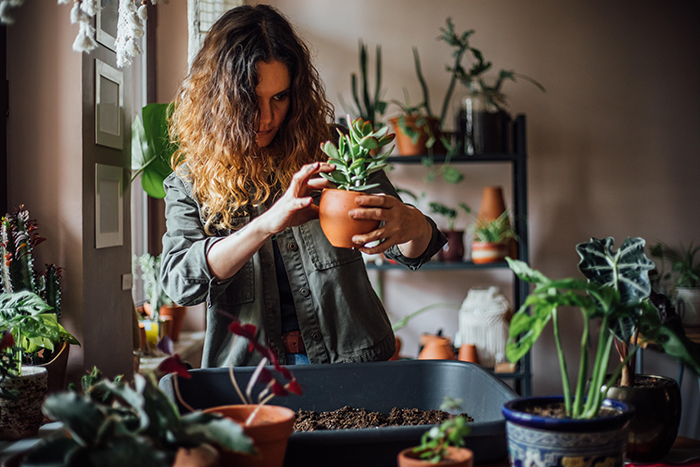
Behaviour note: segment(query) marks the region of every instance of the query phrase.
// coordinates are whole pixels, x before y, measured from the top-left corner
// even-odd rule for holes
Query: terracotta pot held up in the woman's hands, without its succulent
[[[355,248],[352,237],[366,234],[379,227],[379,221],[353,219],[348,212],[358,207],[355,198],[363,193],[325,189],[318,205],[321,229],[331,245],[336,248]]]

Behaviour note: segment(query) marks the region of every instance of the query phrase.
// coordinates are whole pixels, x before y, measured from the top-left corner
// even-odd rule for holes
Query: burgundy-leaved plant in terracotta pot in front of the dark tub
[[[244,433],[253,440],[257,451],[255,456],[242,454],[240,452],[224,451],[223,461],[226,465],[241,465],[255,467],[281,467],[284,462],[284,455],[287,449],[287,442],[292,435],[294,427],[294,411],[286,407],[267,404],[275,396],[287,396],[289,394],[302,394],[301,386],[294,375],[284,366],[280,365],[277,354],[271,346],[264,346],[257,340],[258,330],[252,324],[241,324],[233,317],[229,325],[229,332],[234,334],[235,339],[243,337],[248,340],[251,351],[255,350],[261,357],[257,368],[253,372],[245,392],[241,390],[234,376],[233,365],[229,366],[231,383],[238,393],[241,404],[210,407],[204,413],[217,413],[230,418],[243,427]],[[167,345],[167,341],[166,341]],[[233,344],[232,344],[233,345]],[[171,349],[165,349],[161,345],[161,350],[172,353]],[[266,364],[271,363],[277,374],[266,368]],[[187,368],[175,354],[164,360],[159,370],[164,373],[175,373],[173,387],[175,395],[180,403],[191,411],[194,411],[185,400],[183,400],[179,386],[178,376],[190,378]],[[286,383],[282,383],[286,379]],[[263,389],[253,396],[253,392],[258,383],[264,385]],[[256,403],[257,400],[257,403]]]

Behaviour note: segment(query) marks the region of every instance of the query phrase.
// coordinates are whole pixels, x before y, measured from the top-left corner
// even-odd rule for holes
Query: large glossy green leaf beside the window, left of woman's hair
[[[133,181],[141,174],[143,190],[153,198],[165,198],[163,181],[173,171],[172,156],[177,144],[170,141],[168,125],[172,104],[148,104],[131,125],[131,170]]]

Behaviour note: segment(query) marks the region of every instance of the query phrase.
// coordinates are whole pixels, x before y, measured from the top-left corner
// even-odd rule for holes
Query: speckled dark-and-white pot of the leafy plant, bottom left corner
[[[41,405],[48,387],[49,372],[40,366],[22,365],[22,375],[5,378],[4,389],[19,391],[19,400],[0,399],[0,439],[34,436],[44,420]]]

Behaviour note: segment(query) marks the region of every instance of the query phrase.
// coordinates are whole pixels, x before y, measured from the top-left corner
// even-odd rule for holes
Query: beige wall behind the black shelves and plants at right
[[[578,275],[574,246],[590,237],[614,236],[618,245],[627,236],[671,244],[698,239],[700,15],[695,2],[270,3],[292,20],[310,45],[339,116],[344,112],[337,96],[350,100],[350,73],[359,69],[359,38],[369,45],[372,60],[375,45],[382,45],[385,97],[402,100],[405,87],[414,103],[421,97],[411,55],[411,46],[417,46],[437,111],[451,58],[450,49],[436,37],[447,17],[458,31],[476,30],[472,45],[493,62],[494,74],[512,69],[540,81],[546,94],[522,81],[506,83],[504,90],[511,111],[527,114],[531,263],[545,274]],[[179,37],[181,32],[170,34]],[[184,56],[186,49],[181,53]],[[468,165],[463,172],[465,181],[457,186],[424,183],[420,167],[397,166],[390,176],[398,186],[425,191],[422,207],[428,200],[440,200],[465,201],[478,208],[483,186],[503,184],[507,193],[511,189],[508,167]],[[458,226],[467,223],[463,218]],[[499,284],[510,294],[507,271],[390,271],[383,279],[392,319],[431,303],[459,304],[477,285]],[[443,329],[455,334],[456,312],[431,313],[399,332],[407,355],[416,354],[422,332]],[[563,321],[567,350],[575,351],[580,323],[576,316]],[[647,362],[648,372],[676,375],[677,366],[665,357],[647,352]],[[536,345],[533,364],[535,392],[560,392],[548,337]],[[570,366],[575,367],[574,362]],[[697,381],[686,376],[683,391],[687,413],[697,415]],[[700,435],[696,419],[684,419],[687,435]]]

